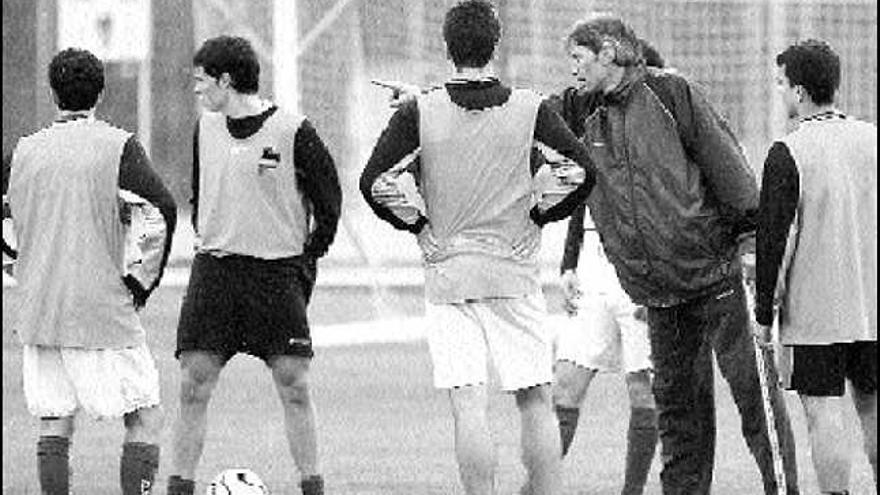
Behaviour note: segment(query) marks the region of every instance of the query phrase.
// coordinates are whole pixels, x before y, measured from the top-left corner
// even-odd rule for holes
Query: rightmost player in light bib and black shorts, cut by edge
[[[779,301],[787,385],[807,416],[819,489],[845,494],[846,382],[877,480],[877,128],[835,107],[840,58],[827,43],[794,44],[776,64],[798,127],[764,164],[755,318],[769,342]]]

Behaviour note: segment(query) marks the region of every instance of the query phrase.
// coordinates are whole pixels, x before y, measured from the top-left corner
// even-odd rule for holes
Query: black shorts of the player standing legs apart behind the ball
[[[225,363],[239,352],[311,358],[306,308],[315,286],[313,258],[262,260],[197,254],[177,326],[177,351],[209,351]]]

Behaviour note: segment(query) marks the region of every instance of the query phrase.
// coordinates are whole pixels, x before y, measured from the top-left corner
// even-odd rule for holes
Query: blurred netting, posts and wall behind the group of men
[[[337,160],[343,225],[330,260],[416,263],[408,236],[375,220],[357,178],[391,111],[371,78],[419,84],[449,73],[442,22],[450,0],[4,0],[3,152],[53,115],[45,68],[61,48],[102,56],[108,84],[99,114],[137,132],[181,207],[188,208],[193,51],[208,37],[252,40],[263,62],[261,93],[308,115]],[[570,82],[563,36],[594,12],[626,19],[667,64],[701,83],[760,173],[785,130],[774,90],[775,56],[793,41],[827,40],[842,57],[839,106],[877,120],[874,0],[497,0],[503,79],[545,93]],[[71,17],[74,16],[74,17]],[[84,19],[72,22],[71,19]],[[184,217],[186,218],[186,217]],[[185,228],[185,227],[184,227]],[[548,264],[563,228],[545,236]]]

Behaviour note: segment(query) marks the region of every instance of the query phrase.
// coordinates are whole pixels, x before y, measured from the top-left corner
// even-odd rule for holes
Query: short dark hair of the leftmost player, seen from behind
[[[67,48],[49,63],[49,86],[61,110],[90,110],[104,91],[104,64],[88,50]]]

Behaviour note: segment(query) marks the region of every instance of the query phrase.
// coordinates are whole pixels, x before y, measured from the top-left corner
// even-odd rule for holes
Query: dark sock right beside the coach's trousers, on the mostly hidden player
[[[641,495],[645,490],[654,451],[657,448],[657,412],[653,408],[636,407],[629,412],[626,435],[626,474],[623,495]]]

